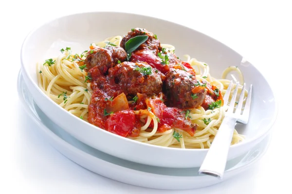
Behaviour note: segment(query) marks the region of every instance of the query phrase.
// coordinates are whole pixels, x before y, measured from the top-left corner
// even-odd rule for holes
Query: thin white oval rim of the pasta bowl
[[[161,18],[157,18],[157,17],[153,17],[153,16],[146,16],[146,15],[141,15],[141,14],[133,14],[133,13],[128,13],[128,12],[109,12],[109,11],[92,11],[92,12],[79,12],[79,13],[75,13],[75,14],[68,14],[68,15],[64,15],[64,16],[58,16],[58,17],[55,17],[53,19],[50,19],[50,20],[47,20],[46,22],[42,23],[42,24],[39,24],[37,25],[35,28],[33,28],[25,37],[23,43],[22,43],[22,46],[21,46],[21,50],[20,50],[20,62],[21,62],[21,69],[23,70],[23,72],[27,75],[28,79],[33,83],[33,86],[37,89],[37,91],[39,93],[41,93],[42,96],[46,97],[48,100],[50,100],[51,102],[53,102],[55,104],[56,107],[58,107],[59,109],[61,109],[64,113],[67,113],[67,114],[70,114],[71,116],[73,116],[74,118],[77,119],[76,116],[74,116],[73,114],[69,113],[68,111],[66,111],[65,109],[59,107],[51,98],[47,97],[47,95],[45,95],[41,90],[40,88],[37,86],[37,84],[35,83],[35,81],[33,81],[32,77],[29,76],[30,74],[27,72],[27,68],[25,68],[25,65],[24,65],[24,62],[23,62],[23,53],[24,53],[24,47],[28,44],[28,40],[29,38],[34,34],[34,32],[36,32],[39,28],[55,21],[55,20],[58,20],[58,19],[61,19],[61,18],[65,18],[65,17],[70,17],[70,16],[77,16],[77,15],[87,15],[87,14],[120,14],[120,15],[132,15],[132,16],[142,16],[142,17],[146,17],[146,18],[152,18],[152,19],[157,19],[157,20],[160,20],[160,21],[163,21],[163,22],[168,22],[168,23],[171,23],[173,25],[177,25],[177,26],[181,26],[183,28],[187,28],[191,31],[195,31],[195,32],[198,32],[200,33],[201,35],[204,35],[204,36],[207,36],[208,38],[220,43],[221,45],[223,45],[224,47],[227,47],[229,49],[231,49],[233,52],[235,52],[236,54],[238,54],[239,56],[242,57],[242,55],[240,55],[239,53],[237,53],[237,51],[235,51],[234,49],[228,47],[227,45],[223,44],[222,42],[220,42],[219,40],[217,39],[214,39],[212,38],[211,36],[207,35],[207,34],[204,34],[200,31],[197,31],[195,29],[192,29],[190,27],[187,27],[187,26],[184,26],[182,24],[179,24],[179,23],[176,23],[176,22],[172,22],[172,21],[168,21],[168,20],[165,20],[165,19],[161,19]],[[273,94],[273,97],[274,97],[274,103],[275,103],[275,111],[274,111],[274,115],[273,115],[273,118],[270,122],[270,124],[268,125],[268,127],[266,127],[266,130],[260,134],[258,134],[257,136],[255,137],[252,137],[250,138],[249,140],[247,141],[243,141],[243,142],[240,142],[238,144],[235,144],[235,145],[231,145],[230,146],[230,149],[234,149],[238,146],[243,146],[245,144],[248,144],[250,142],[253,142],[255,141],[256,139],[264,136],[265,134],[268,134],[268,132],[271,130],[271,128],[273,127],[274,125],[274,122],[276,120],[276,117],[277,117],[277,113],[278,113],[278,103],[277,103],[277,100],[276,100],[276,97],[274,95],[274,92],[272,90],[272,87],[271,85],[269,84],[269,82],[267,81],[267,79],[265,78],[265,76],[256,68],[255,65],[253,65],[251,63],[251,65],[258,71],[258,73],[263,77],[263,79],[267,82],[267,86],[271,89],[272,91],[272,94]],[[80,122],[84,122],[84,124],[86,124],[89,128],[95,128],[95,129],[98,129],[98,130],[101,130],[101,132],[104,132],[108,135],[112,135],[114,136],[115,138],[122,138],[124,141],[128,141],[129,143],[131,144],[139,144],[139,145],[142,145],[142,146],[149,146],[149,147],[153,147],[153,148],[156,148],[156,149],[165,149],[165,150],[169,150],[169,151],[180,151],[180,152],[206,152],[209,150],[209,148],[204,148],[204,149],[181,149],[181,148],[175,148],[175,147],[164,147],[164,146],[156,146],[156,145],[151,145],[151,144],[146,144],[146,143],[142,143],[142,142],[137,142],[137,141],[133,141],[131,139],[128,139],[128,138],[125,138],[125,137],[121,137],[119,135],[116,135],[114,133],[111,133],[105,129],[101,129],[97,126],[94,126],[92,125],[91,123],[88,123],[84,120],[81,120],[79,119]]]

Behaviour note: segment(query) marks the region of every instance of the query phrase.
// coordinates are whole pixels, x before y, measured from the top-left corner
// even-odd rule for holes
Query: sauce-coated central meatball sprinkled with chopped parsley
[[[162,92],[162,80],[156,69],[146,63],[124,62],[109,69],[109,76],[114,77],[128,95],[137,93],[152,95]]]

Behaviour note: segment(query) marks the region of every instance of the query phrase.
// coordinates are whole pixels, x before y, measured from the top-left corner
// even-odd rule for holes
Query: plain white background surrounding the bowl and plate
[[[0,3],[0,193],[29,194],[262,194],[290,193],[292,6],[281,1],[47,0]],[[34,133],[16,91],[20,48],[37,25],[86,11],[121,11],[183,24],[218,39],[267,78],[279,111],[266,155],[220,184],[188,191],[135,187],[101,177],[71,162]],[[78,24],[82,28],[82,24]],[[171,29],[165,29],[171,30]]]

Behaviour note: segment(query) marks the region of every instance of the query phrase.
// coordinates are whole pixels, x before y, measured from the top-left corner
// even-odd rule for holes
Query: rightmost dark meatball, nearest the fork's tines
[[[198,85],[195,75],[181,69],[171,69],[166,74],[164,84],[167,103],[172,107],[197,108],[201,106],[206,96],[204,83]]]

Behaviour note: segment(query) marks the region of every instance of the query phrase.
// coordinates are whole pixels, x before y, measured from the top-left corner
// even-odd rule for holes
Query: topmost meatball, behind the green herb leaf
[[[135,28],[135,29],[132,29],[130,32],[128,32],[128,34],[124,36],[124,38],[122,39],[120,46],[123,49],[125,49],[126,42],[130,38],[133,38],[139,35],[147,35],[148,39],[142,45],[140,45],[137,50],[140,50],[140,49],[151,50],[154,52],[155,55],[157,55],[157,53],[161,51],[162,47],[160,45],[159,40],[156,38],[156,36],[154,36],[153,33],[148,32],[146,29],[141,29],[141,28]]]

